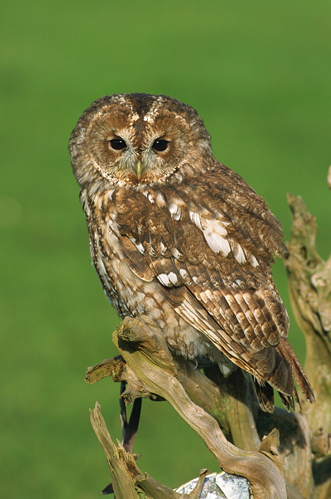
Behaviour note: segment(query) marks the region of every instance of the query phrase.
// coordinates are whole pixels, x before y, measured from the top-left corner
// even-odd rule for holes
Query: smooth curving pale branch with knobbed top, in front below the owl
[[[143,393],[149,391],[168,400],[178,414],[203,438],[224,471],[246,477],[252,486],[255,499],[286,498],[284,477],[280,468],[272,461],[271,452],[271,459],[268,459],[261,453],[236,448],[225,439],[215,419],[188,397],[175,377],[177,373],[167,353],[168,348],[154,324],[147,326],[143,318],[125,318],[119,329],[114,332],[113,341],[142,383]],[[132,341],[139,345],[135,351],[130,346]],[[136,383],[134,385],[136,386]],[[126,397],[129,392],[128,388]],[[132,398],[130,395],[129,399]]]

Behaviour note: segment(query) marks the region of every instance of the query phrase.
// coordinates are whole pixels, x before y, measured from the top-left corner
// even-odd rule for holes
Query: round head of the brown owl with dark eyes
[[[203,168],[210,136],[197,111],[165,95],[114,94],[83,113],[70,138],[72,166],[83,187],[166,182]]]

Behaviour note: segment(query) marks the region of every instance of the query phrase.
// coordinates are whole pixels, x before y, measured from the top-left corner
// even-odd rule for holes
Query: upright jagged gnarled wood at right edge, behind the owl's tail
[[[292,239],[288,245],[290,256],[286,261],[289,293],[295,318],[306,338],[304,368],[316,396],[313,405],[302,401],[312,437],[312,450],[316,452],[312,463],[313,497],[330,499],[331,256],[324,261],[319,255],[316,220],[307,211],[302,198],[289,194],[288,203],[293,214]],[[325,452],[324,456],[321,452]]]

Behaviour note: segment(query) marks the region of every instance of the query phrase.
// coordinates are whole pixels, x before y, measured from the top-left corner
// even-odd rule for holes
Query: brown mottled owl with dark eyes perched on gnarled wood
[[[312,388],[286,339],[270,263],[281,225],[211,151],[195,109],[164,95],[96,100],[70,138],[74,175],[105,293],[120,317],[145,314],[173,355],[249,373],[260,406]]]

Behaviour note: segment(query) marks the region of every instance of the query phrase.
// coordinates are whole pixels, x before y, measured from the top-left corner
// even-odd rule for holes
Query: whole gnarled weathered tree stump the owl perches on
[[[316,404],[273,414],[260,410],[240,370],[228,378],[217,368],[205,374],[172,358],[158,328],[146,317],[126,317],[113,333],[120,356],[88,369],[86,380],[125,381],[121,397],[167,400],[204,440],[222,470],[246,477],[254,499],[331,498],[331,257],[318,255],[316,223],[300,197],[288,196],[293,213],[286,261],[292,307],[307,341],[305,370]],[[207,374],[207,376],[206,376]],[[91,422],[104,449],[116,499],[184,498],[143,475],[133,456],[112,442],[100,407]],[[278,432],[279,430],[279,432]],[[279,439],[280,435],[280,439]],[[280,442],[280,445],[279,445]],[[198,499],[203,470],[191,499]]]

